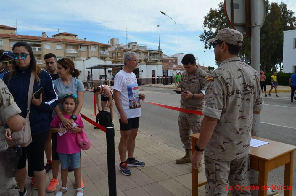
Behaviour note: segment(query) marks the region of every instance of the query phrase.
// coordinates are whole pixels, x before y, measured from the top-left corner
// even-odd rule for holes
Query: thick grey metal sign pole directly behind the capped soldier
[[[251,66],[258,73],[260,73],[260,26],[260,1],[251,0]],[[253,114],[251,135],[259,136],[259,132],[260,115]],[[258,176],[258,171],[251,170],[250,183],[258,185]],[[251,191],[251,193],[252,195],[257,195],[258,191]]]

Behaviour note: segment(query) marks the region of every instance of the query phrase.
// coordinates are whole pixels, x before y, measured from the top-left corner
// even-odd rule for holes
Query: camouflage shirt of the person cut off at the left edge
[[[22,111],[14,102],[11,93],[9,92],[7,86],[0,79],[0,152],[8,148],[7,142],[5,140],[5,122],[16,114]]]

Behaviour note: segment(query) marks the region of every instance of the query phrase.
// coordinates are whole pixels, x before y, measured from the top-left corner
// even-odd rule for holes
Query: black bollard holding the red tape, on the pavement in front
[[[109,195],[116,196],[114,127],[106,127]]]

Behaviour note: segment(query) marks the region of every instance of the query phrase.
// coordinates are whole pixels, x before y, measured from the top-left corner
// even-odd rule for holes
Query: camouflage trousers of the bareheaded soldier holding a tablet
[[[202,118],[203,115],[180,112],[178,119],[179,133],[185,149],[191,149],[191,138],[189,135],[191,134],[191,131],[193,134],[200,132]]]

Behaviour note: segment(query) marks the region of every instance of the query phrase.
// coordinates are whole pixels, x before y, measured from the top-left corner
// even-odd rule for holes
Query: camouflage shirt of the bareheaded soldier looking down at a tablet
[[[182,91],[189,91],[192,94],[201,93],[200,90],[205,90],[207,85],[207,73],[198,68],[195,73],[190,74],[184,71],[181,75],[181,81],[177,87]],[[201,111],[204,105],[203,99],[185,99],[181,96],[181,108]]]

